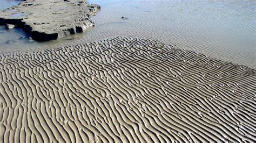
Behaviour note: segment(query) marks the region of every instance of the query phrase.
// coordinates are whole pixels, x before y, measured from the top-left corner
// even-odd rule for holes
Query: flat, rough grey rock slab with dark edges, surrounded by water
[[[26,1],[0,11],[0,24],[22,26],[34,40],[55,40],[94,26],[90,16],[99,9],[99,5],[88,5],[86,0]]]

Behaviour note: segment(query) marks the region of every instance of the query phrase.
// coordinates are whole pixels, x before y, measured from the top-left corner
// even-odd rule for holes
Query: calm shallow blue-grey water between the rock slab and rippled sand
[[[215,58],[255,68],[256,2],[102,1],[92,17],[96,26],[83,34],[50,42],[15,42],[0,33],[0,53],[49,48],[67,42],[89,42],[116,35],[150,37]],[[122,19],[125,16],[128,19]],[[0,31],[2,30],[1,28]],[[10,34],[10,33],[8,33]]]

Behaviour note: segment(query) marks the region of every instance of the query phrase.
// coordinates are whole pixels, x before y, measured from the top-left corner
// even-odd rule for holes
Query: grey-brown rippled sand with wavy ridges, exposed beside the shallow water
[[[0,58],[0,142],[256,140],[255,69],[134,37]]]

